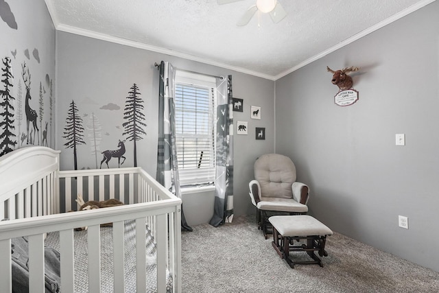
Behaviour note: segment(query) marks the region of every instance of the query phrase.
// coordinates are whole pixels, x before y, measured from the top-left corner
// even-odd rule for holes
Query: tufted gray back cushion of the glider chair
[[[270,198],[292,198],[296,166],[282,154],[264,154],[254,163],[254,179],[261,185],[261,194]]]

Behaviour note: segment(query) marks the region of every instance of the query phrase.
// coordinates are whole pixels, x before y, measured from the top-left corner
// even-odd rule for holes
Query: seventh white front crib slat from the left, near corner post
[[[156,216],[157,221],[157,237],[156,243],[167,243],[167,224],[166,215],[161,214]],[[157,292],[166,292],[166,255],[167,255],[167,245],[157,246]]]

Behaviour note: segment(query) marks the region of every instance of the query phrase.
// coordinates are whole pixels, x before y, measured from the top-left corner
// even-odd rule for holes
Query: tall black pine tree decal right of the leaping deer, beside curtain
[[[141,95],[137,84],[132,84],[131,91],[128,92],[128,97],[126,97],[125,112],[123,113],[122,126],[125,128],[125,132],[122,135],[128,135],[127,139],[134,141],[134,167],[137,167],[137,144],[136,142],[142,139],[141,134],[146,132],[142,129],[142,126],[146,126],[142,122],[145,120],[145,115],[141,112],[143,110],[143,100],[138,97]]]

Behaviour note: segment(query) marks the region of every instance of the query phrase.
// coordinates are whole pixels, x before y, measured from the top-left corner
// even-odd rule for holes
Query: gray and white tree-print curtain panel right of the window
[[[233,220],[233,91],[232,75],[217,78],[217,153],[214,213],[209,224]]]

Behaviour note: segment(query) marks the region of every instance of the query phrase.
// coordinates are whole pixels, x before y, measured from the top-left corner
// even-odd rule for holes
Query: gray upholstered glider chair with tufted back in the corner
[[[248,184],[256,207],[257,222],[265,239],[270,231],[268,217],[299,215],[308,211],[309,187],[296,182],[296,166],[282,154],[264,154],[254,163],[254,180]]]

